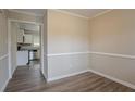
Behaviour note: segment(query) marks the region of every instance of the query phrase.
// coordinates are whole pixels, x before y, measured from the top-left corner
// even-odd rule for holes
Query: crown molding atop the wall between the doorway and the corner
[[[79,14],[75,14],[75,13],[71,13],[71,12],[68,12],[68,11],[64,11],[64,10],[60,10],[60,9],[49,9],[49,10],[60,12],[60,13],[64,13],[64,14],[72,15],[72,16],[76,16],[76,17],[82,17],[82,18],[89,20],[89,17],[86,17],[86,16],[83,16],[83,15],[79,15]]]

